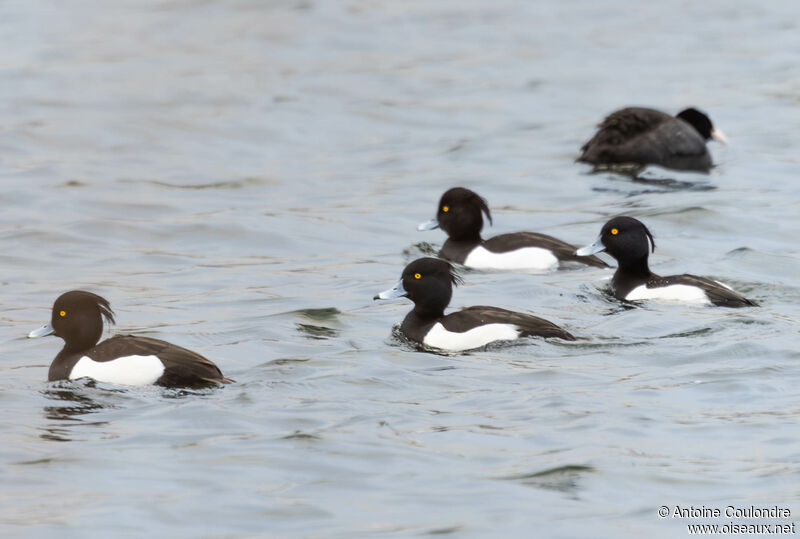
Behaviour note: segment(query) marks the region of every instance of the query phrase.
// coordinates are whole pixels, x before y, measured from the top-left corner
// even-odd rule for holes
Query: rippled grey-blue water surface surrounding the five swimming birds
[[[687,521],[661,505],[797,518],[798,26],[791,1],[0,4],[0,532],[675,537]],[[574,164],[631,104],[704,108],[731,145],[707,176]],[[473,271],[453,307],[586,340],[416,351],[392,334],[410,305],[371,298],[441,245],[415,225],[455,185],[488,199],[489,233],[585,244],[637,216],[655,271],[761,307],[626,310],[610,271]],[[238,383],[48,384],[61,343],[25,335],[74,288],[111,300],[112,332]]]

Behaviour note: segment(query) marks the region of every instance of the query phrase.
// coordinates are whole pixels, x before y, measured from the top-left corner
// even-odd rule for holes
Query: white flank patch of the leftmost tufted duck
[[[89,377],[98,382],[143,386],[154,383],[162,374],[164,364],[156,356],[124,356],[111,361],[83,356],[72,367],[69,379]]]

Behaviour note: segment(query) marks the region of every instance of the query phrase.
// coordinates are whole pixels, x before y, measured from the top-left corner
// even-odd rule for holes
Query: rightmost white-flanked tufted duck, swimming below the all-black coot
[[[653,235],[641,221],[621,216],[603,225],[597,240],[578,249],[577,253],[588,255],[606,251],[617,260],[617,271],[611,280],[611,290],[617,299],[679,301],[721,307],[757,305],[729,286],[705,277],[656,275],[647,264],[655,248]]]

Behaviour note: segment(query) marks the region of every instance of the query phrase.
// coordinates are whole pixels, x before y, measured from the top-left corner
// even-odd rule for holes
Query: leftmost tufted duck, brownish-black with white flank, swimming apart
[[[56,299],[50,323],[28,334],[29,338],[55,335],[64,339],[48,380],[88,377],[112,384],[168,387],[233,382],[203,356],[158,339],[116,335],[97,344],[103,318],[113,324],[114,312],[108,300],[97,294],[73,290]]]

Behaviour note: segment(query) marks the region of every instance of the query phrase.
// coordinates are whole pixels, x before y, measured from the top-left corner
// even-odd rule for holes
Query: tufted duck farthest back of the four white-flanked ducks
[[[444,230],[448,239],[439,256],[470,268],[551,270],[564,262],[608,267],[596,256],[576,256],[574,245],[545,234],[513,232],[484,240],[483,214],[491,223],[485,199],[469,189],[453,187],[442,195],[436,218],[417,230]]]

